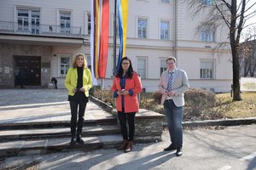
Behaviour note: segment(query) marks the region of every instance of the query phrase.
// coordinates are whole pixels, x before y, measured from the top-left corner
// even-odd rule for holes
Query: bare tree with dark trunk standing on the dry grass
[[[218,26],[227,26],[229,29],[230,49],[233,65],[233,100],[241,100],[240,93],[240,39],[241,31],[247,26],[247,20],[252,19],[256,12],[253,6],[254,0],[189,0],[193,14],[207,13],[207,21],[201,24],[201,28],[216,29]],[[222,42],[223,43],[223,42]],[[224,43],[223,43],[224,44]]]

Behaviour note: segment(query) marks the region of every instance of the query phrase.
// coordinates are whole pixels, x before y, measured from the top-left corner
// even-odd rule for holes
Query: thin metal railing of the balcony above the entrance
[[[53,37],[82,37],[81,27],[31,23],[23,23],[23,25],[20,25],[17,22],[8,21],[0,21],[0,32]]]

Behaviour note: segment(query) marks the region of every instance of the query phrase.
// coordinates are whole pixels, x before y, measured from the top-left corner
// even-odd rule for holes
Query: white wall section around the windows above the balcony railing
[[[39,8],[41,12],[40,23],[43,25],[55,25],[59,26],[59,11],[67,10],[72,13],[72,25],[83,27],[82,33],[84,33],[85,17],[84,12],[90,10],[89,0],[73,0],[73,1],[34,1],[34,0],[8,0],[0,1],[0,20],[16,22],[16,8]]]

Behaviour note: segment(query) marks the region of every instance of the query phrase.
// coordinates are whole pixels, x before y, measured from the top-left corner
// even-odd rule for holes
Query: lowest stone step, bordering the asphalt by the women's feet
[[[48,154],[70,150],[99,150],[116,148],[122,144],[121,134],[83,137],[84,144],[69,144],[70,138],[54,139],[21,139],[0,142],[0,158],[7,156],[26,156],[32,154]],[[157,137],[135,137],[135,143],[155,142]],[[158,140],[159,141],[159,140]]]

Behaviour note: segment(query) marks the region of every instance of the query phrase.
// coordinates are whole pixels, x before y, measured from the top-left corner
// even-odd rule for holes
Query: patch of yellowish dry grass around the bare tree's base
[[[230,94],[217,94],[218,98],[232,101]],[[241,93],[241,101],[233,101],[230,111],[224,113],[228,118],[256,116],[256,93]]]

